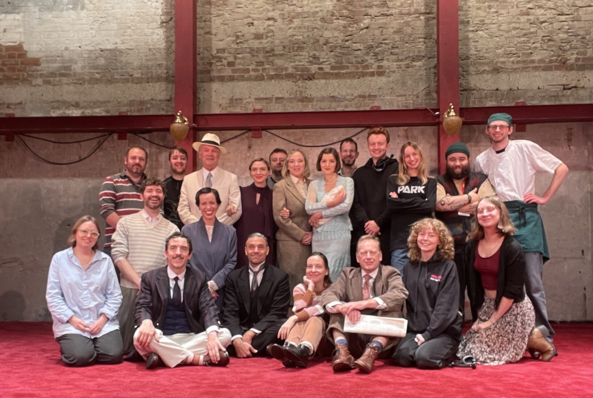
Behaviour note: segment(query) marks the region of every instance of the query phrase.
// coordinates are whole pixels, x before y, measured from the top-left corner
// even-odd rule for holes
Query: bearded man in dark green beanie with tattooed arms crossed
[[[466,266],[464,253],[471,220],[481,198],[494,195],[486,174],[470,171],[470,150],[466,144],[454,142],[445,152],[445,174],[436,177],[436,218],[447,225],[455,241],[455,265],[460,287],[460,310],[466,300]]]

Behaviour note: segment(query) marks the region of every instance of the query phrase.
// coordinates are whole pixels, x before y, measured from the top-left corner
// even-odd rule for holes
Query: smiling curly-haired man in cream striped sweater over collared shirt
[[[122,306],[117,319],[122,333],[123,354],[126,359],[134,357],[134,307],[143,273],[167,265],[165,240],[179,232],[173,222],[161,214],[165,184],[158,179],[146,179],[140,188],[144,209],[123,216],[113,234],[111,256],[122,273]],[[139,359],[139,358],[136,358]]]

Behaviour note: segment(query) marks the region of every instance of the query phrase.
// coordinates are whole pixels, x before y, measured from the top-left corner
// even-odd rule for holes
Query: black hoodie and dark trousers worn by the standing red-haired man
[[[393,155],[392,155],[393,156]],[[381,162],[381,161],[380,161]],[[387,211],[387,180],[391,174],[397,174],[399,164],[394,158],[385,158],[381,171],[375,170],[372,158],[364,166],[356,169],[354,180],[354,200],[350,209],[350,220],[353,225],[352,243],[365,234],[365,224],[374,220],[381,228],[381,251],[383,262],[391,258],[389,235],[391,231],[391,215]]]

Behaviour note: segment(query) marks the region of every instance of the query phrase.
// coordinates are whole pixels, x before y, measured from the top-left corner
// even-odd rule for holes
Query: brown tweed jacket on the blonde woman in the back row
[[[307,180],[307,187],[310,183],[311,180]],[[291,212],[289,218],[280,216],[282,208],[287,208]],[[305,198],[298,192],[290,177],[274,184],[272,211],[274,221],[278,225],[276,240],[300,242],[305,233],[312,231],[311,225],[309,225],[311,216],[305,211]]]

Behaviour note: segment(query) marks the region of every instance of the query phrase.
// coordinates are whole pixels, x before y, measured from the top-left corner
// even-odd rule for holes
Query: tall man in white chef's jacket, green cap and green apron
[[[560,188],[568,167],[535,142],[509,140],[513,132],[512,118],[507,113],[495,113],[488,119],[486,135],[492,147],[476,157],[473,170],[487,174],[496,195],[505,202],[513,224],[515,239],[525,253],[525,291],[535,309],[535,326],[544,326],[554,336],[546,311],[546,295],[541,282],[543,264],[550,259],[546,233],[537,205],[545,205]],[[553,174],[544,195],[535,195],[535,173]],[[546,334],[545,331],[544,335]]]

